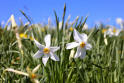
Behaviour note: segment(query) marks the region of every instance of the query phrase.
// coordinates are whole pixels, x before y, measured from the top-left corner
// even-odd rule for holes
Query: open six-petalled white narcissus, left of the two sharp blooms
[[[46,46],[40,44],[38,41],[34,40],[35,44],[39,48],[39,50],[35,53],[33,56],[34,58],[40,58],[42,57],[42,62],[46,66],[46,63],[49,59],[49,57],[54,61],[59,61],[59,57],[54,54],[57,50],[59,50],[60,47],[50,47],[51,45],[51,35],[48,34],[44,38]]]

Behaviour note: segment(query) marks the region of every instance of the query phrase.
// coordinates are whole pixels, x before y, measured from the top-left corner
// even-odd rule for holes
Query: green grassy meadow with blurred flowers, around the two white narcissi
[[[13,16],[10,29],[8,25],[0,27],[0,83],[124,83],[124,31],[105,36],[104,30],[111,27],[102,24],[82,30],[87,17],[69,25],[65,9],[61,28],[56,12],[55,28],[40,24],[17,26]],[[87,34],[92,45],[83,59],[74,58],[77,48],[66,47],[75,41],[74,30]],[[45,45],[48,34],[51,46],[60,47],[55,52],[59,61],[49,58],[44,65],[42,57],[33,57],[39,50],[35,40]]]

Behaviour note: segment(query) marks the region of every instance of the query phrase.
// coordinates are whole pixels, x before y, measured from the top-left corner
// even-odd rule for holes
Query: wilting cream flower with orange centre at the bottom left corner
[[[18,70],[12,69],[12,68],[7,68],[7,69],[5,69],[5,71],[14,72],[14,73],[19,74],[19,75],[27,76],[31,79],[32,83],[40,83],[38,81],[38,78],[41,77],[41,76],[35,74],[38,71],[39,68],[40,68],[40,64],[37,65],[32,71],[30,70],[29,67],[27,67],[27,69],[26,69],[27,72],[18,71]]]

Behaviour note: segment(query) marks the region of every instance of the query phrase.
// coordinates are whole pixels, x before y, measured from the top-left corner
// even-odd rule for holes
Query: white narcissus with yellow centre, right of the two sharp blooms
[[[77,47],[77,52],[74,56],[74,58],[80,57],[81,59],[84,58],[86,55],[86,50],[90,50],[92,48],[91,44],[87,43],[87,35],[82,33],[80,34],[78,31],[74,29],[74,40],[75,42],[71,42],[66,44],[66,49],[72,49]]]

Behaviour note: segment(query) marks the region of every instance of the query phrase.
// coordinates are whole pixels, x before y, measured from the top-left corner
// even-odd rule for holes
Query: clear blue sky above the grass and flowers
[[[116,25],[117,17],[124,19],[124,0],[1,0],[0,22],[6,22],[11,14],[15,15],[17,22],[19,17],[26,22],[20,9],[35,23],[47,23],[48,17],[54,23],[53,10],[56,10],[61,21],[64,3],[67,6],[66,18],[71,15],[71,21],[73,21],[76,16],[88,15],[87,24],[89,26],[94,26],[98,21]]]

